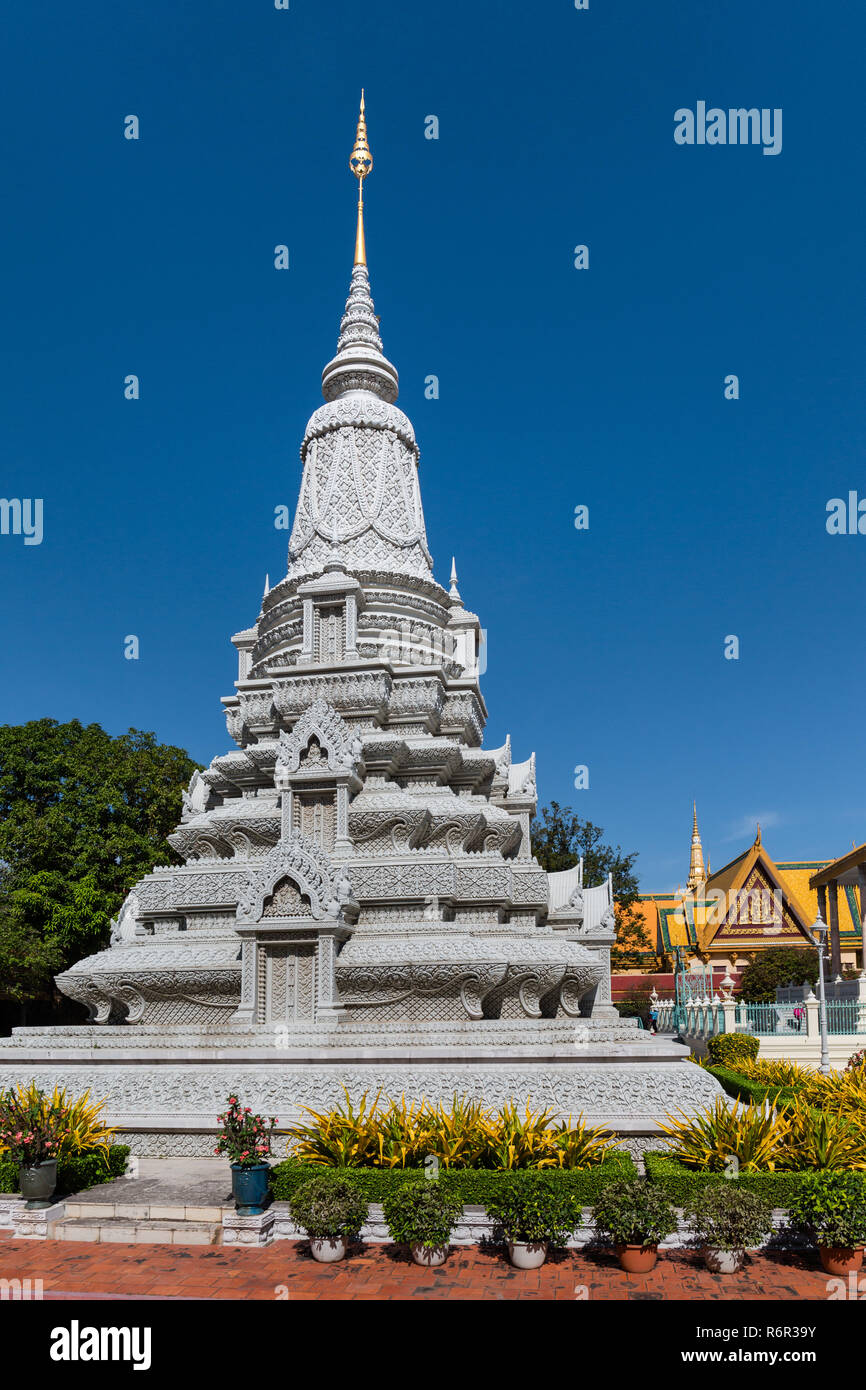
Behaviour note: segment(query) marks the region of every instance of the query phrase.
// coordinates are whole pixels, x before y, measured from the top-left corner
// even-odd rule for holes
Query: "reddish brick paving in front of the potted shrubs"
[[[44,1298],[292,1300],[826,1300],[827,1276],[809,1255],[756,1255],[740,1275],[710,1275],[696,1255],[664,1254],[651,1275],[624,1275],[613,1255],[557,1254],[537,1272],[499,1251],[453,1250],[438,1270],[392,1245],[368,1245],[318,1265],[303,1241],[264,1250],[103,1245],[0,1238],[0,1279],[42,1279]],[[582,1291],[585,1290],[585,1291]]]

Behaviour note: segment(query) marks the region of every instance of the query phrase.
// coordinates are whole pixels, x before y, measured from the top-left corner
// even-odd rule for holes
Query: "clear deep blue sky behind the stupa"
[[[684,878],[692,796],[714,866],[756,817],[778,859],[866,838],[866,535],[824,524],[866,496],[858,7],[147,0],[4,31],[0,491],[44,538],[0,537],[1,721],[228,746],[364,85],[373,291],[436,577],[455,553],[488,628],[487,742],[535,749],[645,891]],[[781,153],[676,145],[699,100],[781,108]]]

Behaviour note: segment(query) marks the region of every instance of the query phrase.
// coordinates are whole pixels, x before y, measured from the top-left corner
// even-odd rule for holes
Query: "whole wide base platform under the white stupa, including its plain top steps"
[[[382,1097],[473,1097],[582,1115],[635,1152],[674,1109],[721,1093],[688,1048],[628,1020],[370,1024],[274,1029],[81,1026],[15,1029],[0,1042],[0,1087],[35,1080],[106,1098],[104,1119],[139,1156],[207,1156],[227,1095],[293,1123],[303,1106]],[[278,1155],[279,1156],[279,1155]]]

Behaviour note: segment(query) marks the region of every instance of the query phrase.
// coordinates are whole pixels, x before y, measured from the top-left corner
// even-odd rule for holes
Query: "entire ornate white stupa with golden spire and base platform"
[[[719,1094],[610,1004],[610,880],[532,858],[535,756],[484,748],[480,620],[432,573],[411,423],[370,293],[363,181],[284,578],[238,632],[234,748],[196,773],[111,944],[58,976],[79,1027],[18,1029],[0,1083],[107,1097],[136,1154],[207,1154],[229,1090],[550,1105],[639,1141]]]

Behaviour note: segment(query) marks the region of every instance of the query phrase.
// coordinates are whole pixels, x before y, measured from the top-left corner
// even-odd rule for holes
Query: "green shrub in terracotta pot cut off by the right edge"
[[[828,1275],[849,1275],[863,1264],[866,1179],[862,1173],[824,1169],[803,1173],[791,1201],[791,1223],[805,1229]]]

